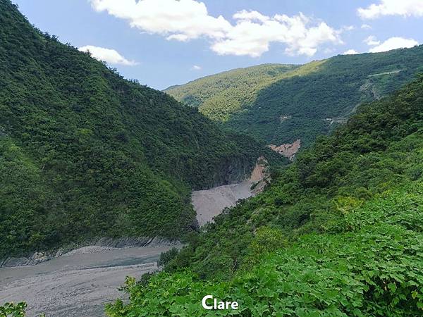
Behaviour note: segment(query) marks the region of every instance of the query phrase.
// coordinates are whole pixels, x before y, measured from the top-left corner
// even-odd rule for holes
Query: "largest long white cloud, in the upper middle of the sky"
[[[189,41],[206,37],[220,55],[258,57],[272,42],[286,45],[287,54],[312,56],[322,44],[342,43],[342,31],[302,13],[269,17],[257,11],[239,11],[234,23],[221,15],[209,15],[204,3],[195,0],[90,0],[94,10],[128,20],[143,32],[167,39]]]

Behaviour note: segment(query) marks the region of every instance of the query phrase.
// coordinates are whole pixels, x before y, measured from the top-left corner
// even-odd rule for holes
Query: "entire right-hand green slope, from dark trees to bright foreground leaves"
[[[420,75],[164,254],[165,272],[128,278],[109,315],[421,316],[422,162]],[[204,294],[239,309],[206,311]]]

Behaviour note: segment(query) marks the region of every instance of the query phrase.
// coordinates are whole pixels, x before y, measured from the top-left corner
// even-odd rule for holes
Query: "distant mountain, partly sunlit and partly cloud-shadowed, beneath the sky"
[[[339,55],[302,66],[262,65],[200,78],[165,91],[227,128],[266,144],[303,146],[423,71],[423,46]],[[333,120],[334,119],[334,120]]]

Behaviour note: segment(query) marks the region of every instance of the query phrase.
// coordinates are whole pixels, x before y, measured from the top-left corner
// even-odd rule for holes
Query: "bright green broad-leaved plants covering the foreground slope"
[[[128,280],[121,316],[419,316],[423,313],[423,184],[386,192],[340,214],[333,233],[304,235],[230,281],[190,271]],[[364,217],[368,215],[369,217]],[[412,219],[410,226],[405,219]],[[339,230],[343,225],[344,230]],[[346,230],[346,232],[345,232]],[[263,234],[261,234],[263,235]],[[205,294],[238,311],[206,311]]]

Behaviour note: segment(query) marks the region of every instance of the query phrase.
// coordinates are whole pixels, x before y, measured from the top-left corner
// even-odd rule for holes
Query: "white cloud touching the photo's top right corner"
[[[423,16],[422,0],[379,0],[379,4],[371,4],[367,8],[358,8],[362,19],[375,19],[384,15]]]

